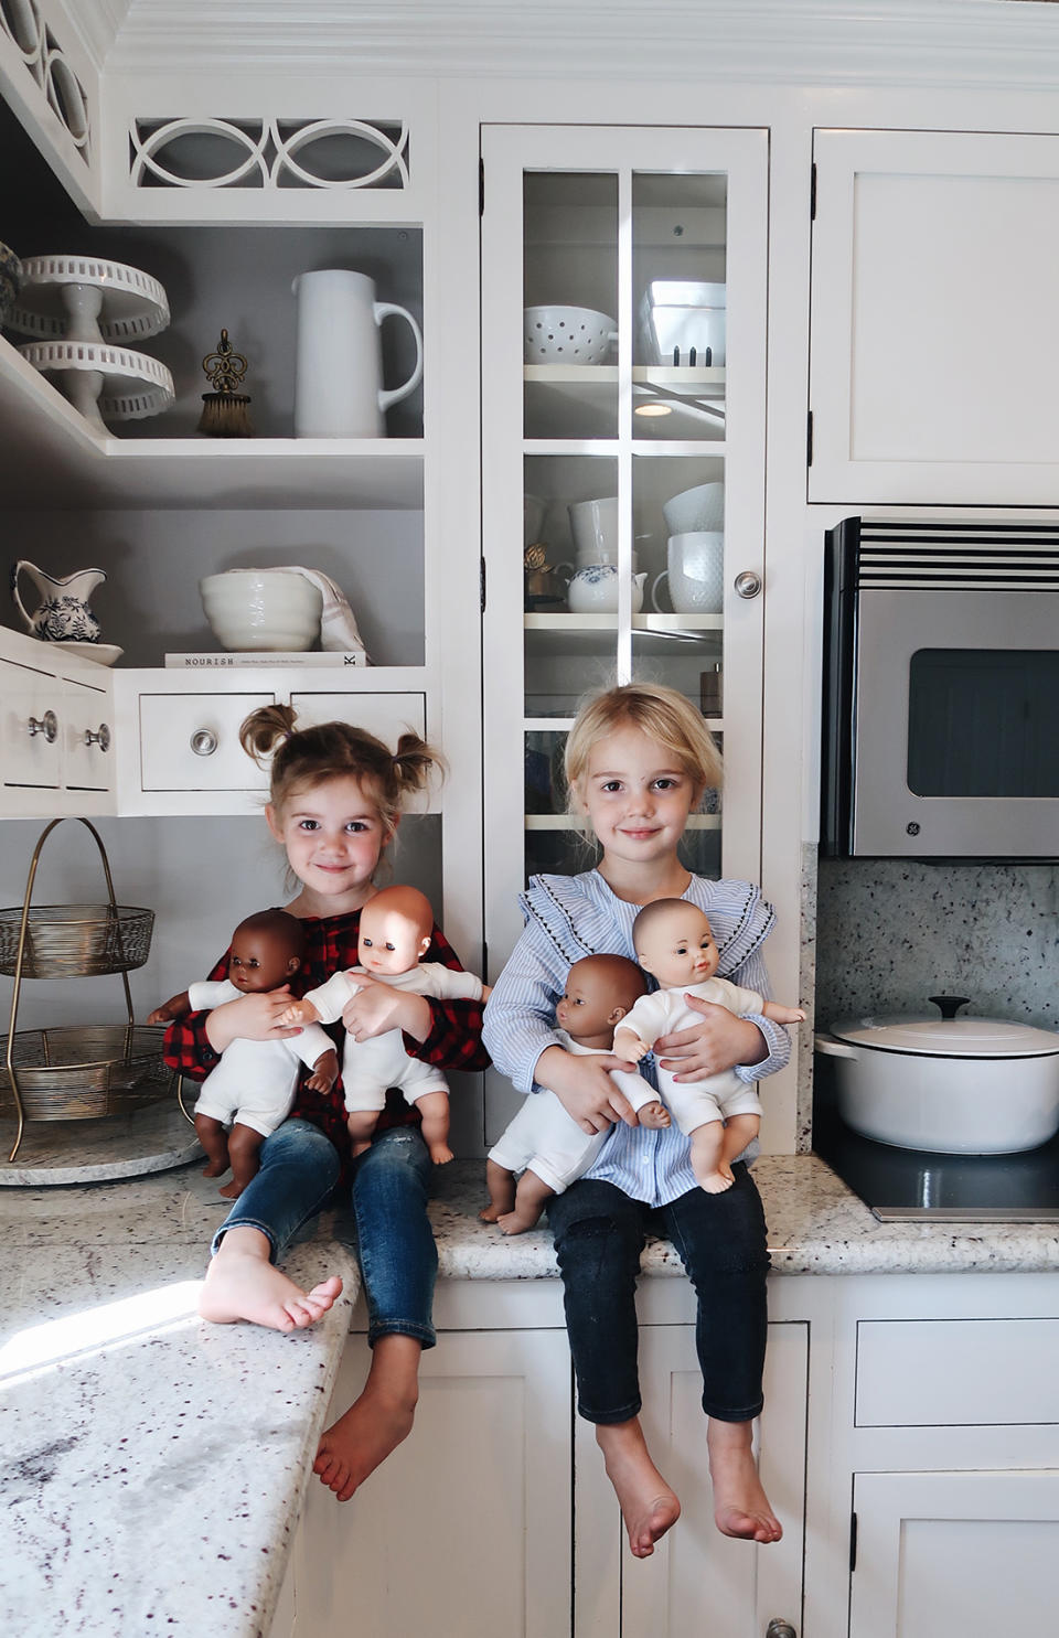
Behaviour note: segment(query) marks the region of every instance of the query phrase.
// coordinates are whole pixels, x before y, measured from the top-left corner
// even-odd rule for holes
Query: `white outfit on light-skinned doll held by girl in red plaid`
[[[379,983],[392,984],[393,989],[408,989],[416,996],[433,996],[436,1001],[480,1001],[482,980],[474,973],[457,973],[441,962],[420,962],[407,973],[375,975],[362,966],[351,966],[344,973],[334,973],[326,984],[308,989],[307,1001],[311,1001],[320,1014],[321,1024],[338,1024],[343,1007],[352,1001],[359,989],[364,989],[359,978],[377,978]],[[397,1086],[405,1102],[415,1104],[426,1093],[446,1093],[449,1083],[441,1070],[420,1058],[410,1058],[405,1052],[402,1030],[392,1029],[385,1035],[372,1040],[354,1040],[346,1035],[343,1048],[343,1088],[346,1093],[346,1109],[356,1114],[369,1109],[382,1109],[387,1101],[387,1088]]]

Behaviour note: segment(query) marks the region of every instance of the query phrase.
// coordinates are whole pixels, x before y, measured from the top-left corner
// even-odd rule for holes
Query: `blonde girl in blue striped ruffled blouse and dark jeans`
[[[530,883],[521,896],[526,927],[490,996],[484,1038],[520,1091],[556,1093],[585,1132],[616,1122],[585,1176],[549,1202],[579,1412],[595,1423],[631,1551],[648,1558],[680,1514],[639,1423],[634,1292],[651,1227],[672,1240],[698,1297],[716,1525],[725,1535],[777,1541],[782,1530],[751,1451],[762,1405],[769,1255],[749,1152],[733,1163],[733,1186],[708,1194],[675,1122],[667,1130],[634,1124],[610,1076],[629,1066],[566,1052],[552,1024],[570,965],[602,952],[634,960],[633,921],[644,904],[666,898],[705,911],[720,973],[767,998],[761,950],[774,912],[751,883],[708,881],[680,862],[689,814],[721,778],[713,739],[682,695],[648,683],[597,695],[570,729],[566,775],[570,808],[589,819],[600,858],[582,875]],[[700,1020],[656,1042],[659,1063],[679,1081],[729,1068],[754,1081],[787,1063],[790,1042],[779,1024],[689,1004]]]

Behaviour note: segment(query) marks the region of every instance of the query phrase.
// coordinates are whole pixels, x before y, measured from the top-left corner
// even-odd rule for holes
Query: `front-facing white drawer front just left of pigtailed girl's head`
[[[141,695],[144,791],[266,791],[269,776],[239,744],[239,724],[274,693]]]

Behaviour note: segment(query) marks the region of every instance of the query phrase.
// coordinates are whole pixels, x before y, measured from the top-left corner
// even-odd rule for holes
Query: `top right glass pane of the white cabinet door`
[[[725,437],[723,174],[633,172],[633,436]]]

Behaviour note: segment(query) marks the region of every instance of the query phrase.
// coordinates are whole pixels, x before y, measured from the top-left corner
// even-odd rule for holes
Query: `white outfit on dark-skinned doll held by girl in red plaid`
[[[211,1012],[243,994],[228,978],[190,984],[187,991],[192,1012]],[[311,1070],[321,1053],[333,1050],[334,1042],[318,1024],[287,1040],[233,1040],[202,1083],[195,1114],[225,1125],[238,1120],[269,1137],[290,1114],[298,1089],[298,1063]]]

